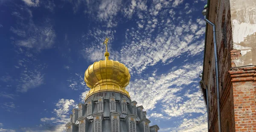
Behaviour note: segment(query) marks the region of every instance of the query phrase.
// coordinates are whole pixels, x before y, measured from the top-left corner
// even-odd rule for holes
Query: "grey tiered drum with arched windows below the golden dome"
[[[87,98],[73,109],[67,132],[157,132],[149,126],[143,106],[120,93],[102,92]],[[112,103],[112,104],[111,104]],[[113,104],[114,103],[114,104]],[[102,108],[101,108],[102,106]],[[111,108],[112,107],[112,108]]]

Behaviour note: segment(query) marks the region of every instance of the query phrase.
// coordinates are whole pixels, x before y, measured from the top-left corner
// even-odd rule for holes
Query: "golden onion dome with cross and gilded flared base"
[[[107,47],[104,55],[105,60],[94,62],[84,73],[84,81],[91,89],[86,98],[106,91],[122,93],[130,97],[125,90],[131,78],[128,68],[118,61],[108,60]]]

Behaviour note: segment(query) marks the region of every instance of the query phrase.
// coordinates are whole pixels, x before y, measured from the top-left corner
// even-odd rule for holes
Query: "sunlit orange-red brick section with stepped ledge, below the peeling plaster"
[[[256,131],[256,67],[230,70],[236,132]]]

